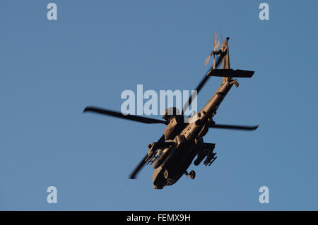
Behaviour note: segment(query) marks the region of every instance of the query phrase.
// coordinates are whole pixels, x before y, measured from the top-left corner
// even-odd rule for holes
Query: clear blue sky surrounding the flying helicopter
[[[318,209],[317,1],[56,0],[57,21],[49,2],[0,1],[0,209]],[[259,20],[261,2],[270,20]],[[259,129],[210,130],[218,159],[190,166],[194,181],[154,190],[151,166],[129,180],[165,126],[83,108],[120,110],[138,84],[192,90],[214,32],[230,37],[232,68],[255,71],[215,120]],[[199,108],[218,85],[208,81]]]

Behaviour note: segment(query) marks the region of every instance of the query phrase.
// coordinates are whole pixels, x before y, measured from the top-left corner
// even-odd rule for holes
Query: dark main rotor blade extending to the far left
[[[87,111],[91,111],[91,112],[95,112],[98,114],[104,114],[107,116],[114,116],[114,117],[118,117],[118,118],[125,118],[128,119],[130,121],[137,121],[140,123],[163,123],[163,124],[167,124],[167,121],[163,121],[163,120],[159,120],[159,119],[155,119],[155,118],[147,118],[144,116],[134,116],[134,115],[124,115],[120,112],[117,111],[112,111],[109,109],[100,109],[97,107],[86,107],[83,112],[87,112]]]

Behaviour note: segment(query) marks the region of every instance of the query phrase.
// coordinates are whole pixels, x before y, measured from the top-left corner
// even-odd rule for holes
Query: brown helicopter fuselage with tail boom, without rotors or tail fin
[[[216,110],[232,85],[232,78],[223,78],[222,84],[205,107],[193,118],[189,118],[190,123],[187,123],[175,137],[173,140],[175,144],[165,152],[167,154],[165,160],[155,168],[153,173],[155,189],[170,186],[176,183],[182,175],[187,174],[187,169],[192,164],[194,157],[196,155],[199,157],[199,152],[203,151],[200,145],[203,141],[199,141],[199,138],[203,138],[208,132],[210,119],[216,114]]]

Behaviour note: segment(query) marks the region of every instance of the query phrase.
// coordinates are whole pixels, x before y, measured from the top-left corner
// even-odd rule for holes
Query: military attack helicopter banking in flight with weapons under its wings
[[[184,117],[184,111],[188,109],[189,105],[192,103],[192,99],[196,97],[195,94],[195,96],[192,95],[189,97],[181,112],[175,107],[165,109],[163,112],[163,120],[130,114],[124,115],[121,112],[99,107],[86,107],[83,110],[83,112],[94,112],[141,123],[163,123],[166,125],[160,139],[157,142],[148,144],[147,154],[141,159],[141,162],[136,166],[129,178],[135,179],[143,166],[148,164],[152,165],[155,170],[153,173],[153,187],[155,189],[163,189],[165,186],[172,186],[183,175],[194,179],[196,177],[195,171],[187,171],[193,161],[195,166],[201,164],[203,160],[205,166],[211,166],[217,158],[216,152],[214,152],[216,144],[204,142],[203,140],[203,137],[208,133],[210,128],[256,130],[259,127],[258,125],[225,125],[213,121],[213,116],[216,115],[220,103],[228,94],[231,87],[233,85],[235,85],[235,87],[239,86],[237,79],[234,78],[252,78],[252,75],[254,75],[254,71],[233,70],[230,68],[229,39],[230,38],[227,37],[224,40],[222,47],[218,49],[220,41],[216,42],[215,33],[213,39],[213,51],[211,51],[205,61],[205,64],[207,65],[211,56],[213,56],[213,64],[196,87],[196,95],[211,76],[221,77],[222,83],[206,105],[198,113],[191,116],[191,118],[188,118],[188,120]],[[217,61],[216,56],[218,57]],[[221,62],[223,68],[218,69]],[[194,160],[195,157],[196,159]]]

